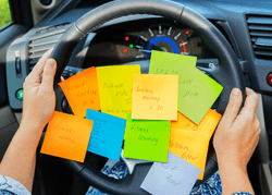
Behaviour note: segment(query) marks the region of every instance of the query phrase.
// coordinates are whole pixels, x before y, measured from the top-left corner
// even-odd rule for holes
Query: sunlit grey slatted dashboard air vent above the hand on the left
[[[70,24],[62,24],[58,26],[50,26],[38,31],[28,45],[29,66],[30,69],[38,62],[40,57],[53,48],[61,36],[70,27]]]

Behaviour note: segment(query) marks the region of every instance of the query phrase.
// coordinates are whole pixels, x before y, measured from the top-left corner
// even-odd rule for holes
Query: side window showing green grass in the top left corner
[[[9,0],[0,0],[0,29],[11,22],[12,19]]]

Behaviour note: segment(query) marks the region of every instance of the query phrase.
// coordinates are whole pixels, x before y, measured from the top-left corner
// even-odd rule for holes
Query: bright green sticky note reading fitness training
[[[132,120],[127,113],[124,157],[149,161],[168,161],[171,121]]]

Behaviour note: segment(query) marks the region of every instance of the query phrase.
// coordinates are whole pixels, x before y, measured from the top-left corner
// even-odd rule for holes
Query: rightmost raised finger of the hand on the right
[[[256,113],[256,109],[258,106],[258,95],[250,88],[246,88],[247,97],[245,100],[245,106],[240,110],[240,112],[245,113]]]

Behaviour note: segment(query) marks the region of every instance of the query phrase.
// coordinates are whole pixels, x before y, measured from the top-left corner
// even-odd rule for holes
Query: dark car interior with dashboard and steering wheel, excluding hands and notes
[[[22,121],[24,81],[46,51],[54,48],[58,64],[55,110],[73,113],[60,76],[121,64],[140,64],[148,73],[150,51],[159,50],[197,57],[197,68],[224,87],[212,106],[221,114],[232,88],[258,93],[261,134],[247,170],[256,194],[272,194],[270,0],[9,0],[9,5],[12,20],[0,28],[0,161]],[[79,163],[40,154],[45,133],[34,195],[85,194],[89,185],[108,194],[149,194],[139,186],[151,163],[136,164],[118,181],[100,173],[104,157],[87,153]],[[211,138],[205,178],[195,186],[215,171]]]

